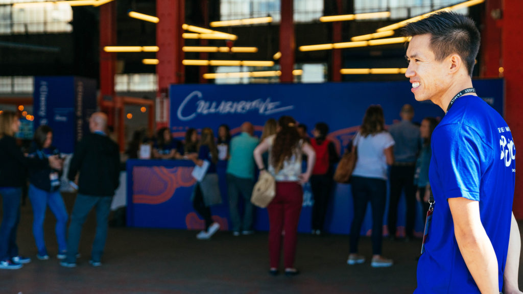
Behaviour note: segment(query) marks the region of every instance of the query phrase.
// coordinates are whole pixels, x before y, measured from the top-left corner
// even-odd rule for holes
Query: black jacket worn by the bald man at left
[[[86,196],[113,196],[120,181],[118,144],[97,133],[85,135],[71,159],[67,177],[79,172],[78,193]]]

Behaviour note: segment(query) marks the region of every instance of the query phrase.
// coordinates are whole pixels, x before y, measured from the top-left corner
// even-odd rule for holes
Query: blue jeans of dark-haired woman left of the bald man
[[[65,230],[67,228],[67,210],[60,191],[48,192],[29,185],[29,199],[33,208],[33,235],[39,255],[47,255],[46,242],[43,238],[43,221],[46,219],[47,206],[56,217],[56,239],[59,252],[67,250]]]

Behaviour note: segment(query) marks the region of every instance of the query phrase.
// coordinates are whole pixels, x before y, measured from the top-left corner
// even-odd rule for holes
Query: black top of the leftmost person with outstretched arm
[[[38,157],[25,157],[16,145],[16,139],[4,135],[0,139],[0,187],[24,186],[29,166],[49,168],[49,161]]]

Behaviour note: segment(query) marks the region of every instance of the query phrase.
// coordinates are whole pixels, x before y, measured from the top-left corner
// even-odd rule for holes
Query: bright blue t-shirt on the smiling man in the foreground
[[[436,201],[419,258],[415,293],[480,293],[461,256],[448,198],[479,201],[483,227],[497,257],[503,288],[516,149],[505,120],[481,98],[462,96],[433,132],[429,178]]]

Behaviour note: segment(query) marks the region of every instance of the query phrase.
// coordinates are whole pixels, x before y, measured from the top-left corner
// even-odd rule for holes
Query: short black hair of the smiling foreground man
[[[453,12],[438,12],[403,28],[405,36],[430,35],[430,49],[437,61],[457,53],[472,76],[477,51],[480,49],[480,32],[474,21]]]

